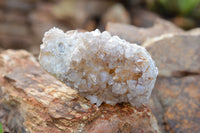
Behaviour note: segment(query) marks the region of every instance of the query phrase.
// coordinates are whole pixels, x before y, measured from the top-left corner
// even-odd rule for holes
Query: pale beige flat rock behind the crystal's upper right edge
[[[136,27],[134,25],[108,23],[106,30],[112,35],[117,35],[131,43],[142,44],[144,41],[167,33],[182,33],[183,30],[177,28],[171,22],[156,18],[151,27]]]

